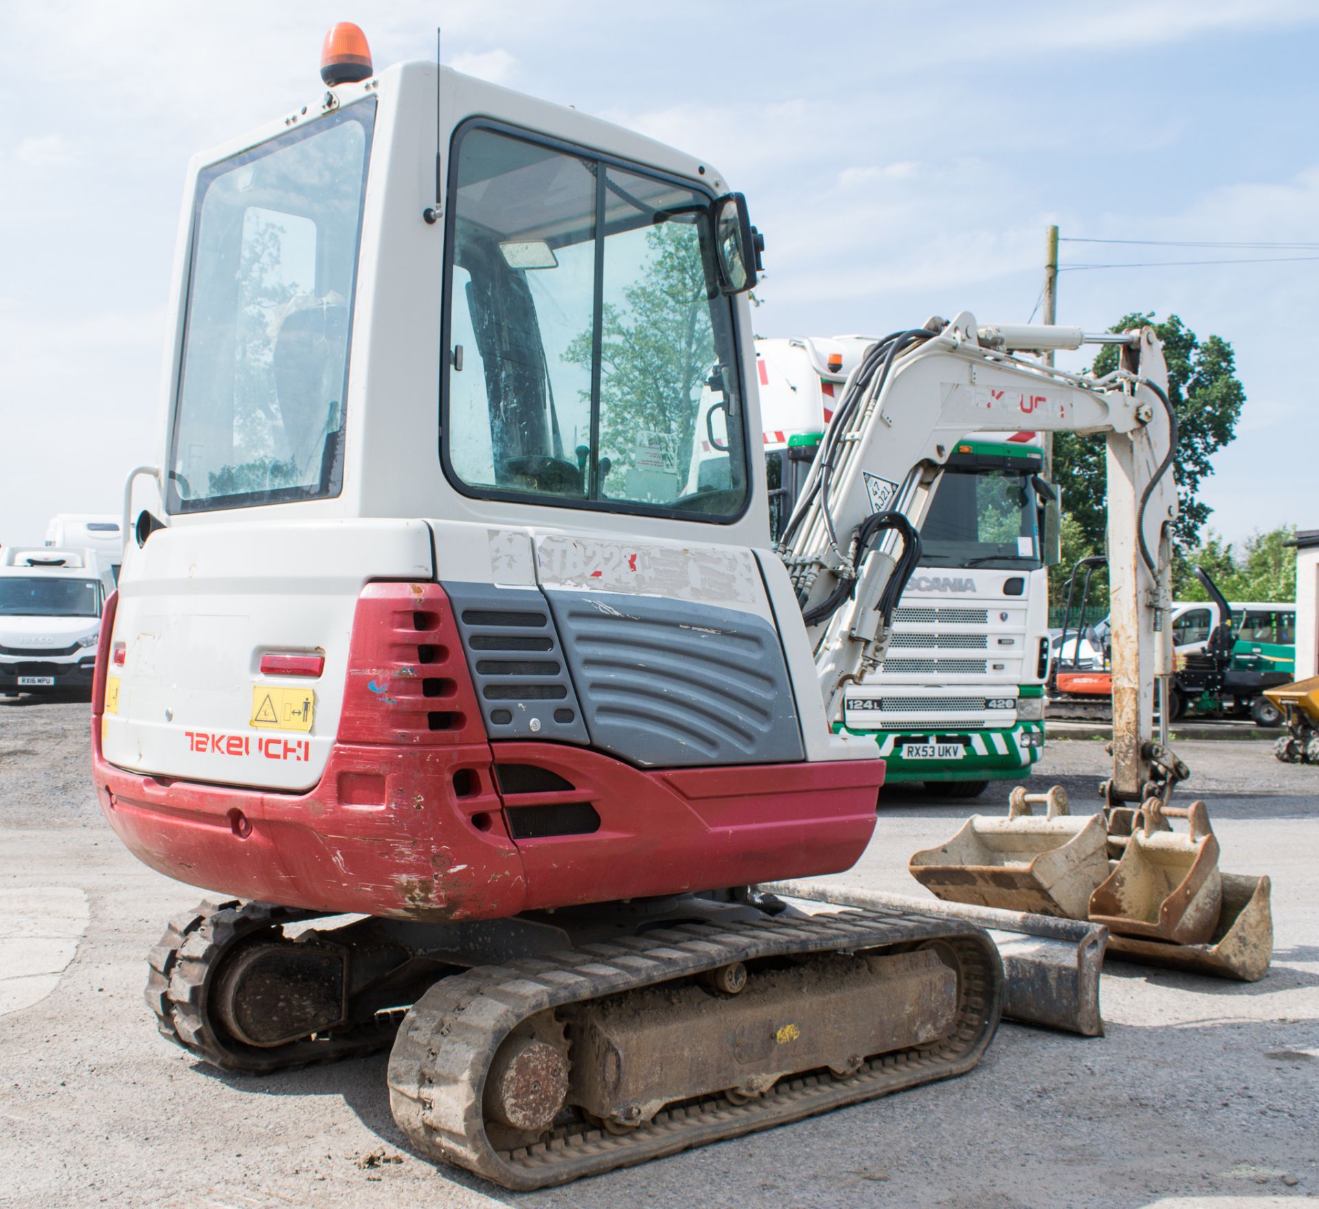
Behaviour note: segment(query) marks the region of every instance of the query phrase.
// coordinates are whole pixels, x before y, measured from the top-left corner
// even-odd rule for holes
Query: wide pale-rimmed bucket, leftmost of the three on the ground
[[[1031,813],[1045,803],[1047,816]],[[1008,817],[972,815],[938,848],[913,854],[907,869],[936,898],[1006,911],[1086,919],[1089,897],[1108,877],[1103,815],[1071,817],[1067,791],[1012,791]]]

